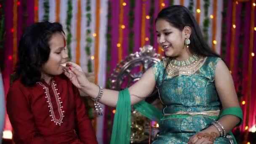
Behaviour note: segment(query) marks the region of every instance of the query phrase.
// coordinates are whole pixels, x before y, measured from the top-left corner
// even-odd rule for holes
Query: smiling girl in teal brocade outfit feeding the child
[[[77,88],[96,103],[117,107],[111,144],[129,143],[131,105],[158,121],[160,134],[153,144],[236,143],[230,131],[242,123],[243,114],[232,76],[203,39],[194,16],[184,6],[170,6],[160,11],[155,26],[165,58],[123,91],[90,83],[80,66],[67,63],[65,75]],[[156,87],[162,112],[143,101]]]

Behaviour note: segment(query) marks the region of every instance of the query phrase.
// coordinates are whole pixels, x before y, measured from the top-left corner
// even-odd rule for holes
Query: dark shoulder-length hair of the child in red
[[[61,24],[54,22],[38,22],[24,31],[19,41],[18,63],[14,79],[21,78],[26,86],[40,81],[41,67],[49,59],[49,41],[54,33],[64,33]]]

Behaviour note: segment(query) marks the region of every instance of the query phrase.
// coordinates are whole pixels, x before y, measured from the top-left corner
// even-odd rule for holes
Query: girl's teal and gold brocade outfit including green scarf
[[[191,136],[208,128],[213,121],[219,119],[222,109],[214,82],[215,68],[219,60],[218,57],[204,57],[189,67],[179,67],[170,63],[165,72],[168,59],[162,59],[153,65],[160,100],[163,104],[162,113],[157,113],[154,108],[150,109],[151,106],[145,101],[134,105],[143,115],[159,123],[160,134],[152,144],[187,144]],[[129,104],[131,104],[131,102],[129,103],[130,96],[122,98],[125,95],[126,97],[129,95],[127,89],[119,93],[111,144],[115,144],[117,139],[126,139],[127,141],[129,139],[131,125],[131,122],[127,122],[129,115],[123,114],[122,116],[121,114],[121,112],[125,113],[123,109],[129,110]],[[127,100],[125,102],[122,99]],[[235,113],[237,113],[236,115],[239,113],[238,117],[242,119],[240,107],[235,109]],[[234,111],[233,113],[225,112],[224,115],[229,114],[234,114]],[[126,121],[121,122],[121,117],[125,117]],[[122,131],[125,131],[123,138],[122,136],[113,136],[113,134],[120,134],[120,130],[117,130],[120,125],[127,128],[127,131],[122,128]],[[219,137],[214,141],[214,144],[229,143],[229,139],[224,137]]]

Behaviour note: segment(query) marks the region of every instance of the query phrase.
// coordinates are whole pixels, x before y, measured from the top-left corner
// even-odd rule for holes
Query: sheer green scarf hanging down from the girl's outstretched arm
[[[131,96],[126,88],[118,94],[110,144],[130,144]]]

